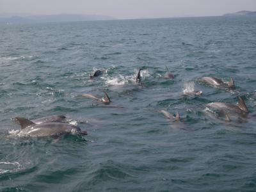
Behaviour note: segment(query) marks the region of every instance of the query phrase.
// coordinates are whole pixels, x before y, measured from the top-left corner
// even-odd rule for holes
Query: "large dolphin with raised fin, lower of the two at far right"
[[[237,113],[239,115],[246,115],[247,113],[249,113],[248,108],[246,107],[246,104],[241,97],[238,97],[237,106],[226,102],[211,102],[209,104],[206,104],[206,107],[230,113]]]

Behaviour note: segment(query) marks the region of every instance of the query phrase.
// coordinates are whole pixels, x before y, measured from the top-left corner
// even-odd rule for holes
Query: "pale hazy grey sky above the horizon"
[[[256,11],[256,0],[0,0],[1,13],[95,14],[117,19]]]

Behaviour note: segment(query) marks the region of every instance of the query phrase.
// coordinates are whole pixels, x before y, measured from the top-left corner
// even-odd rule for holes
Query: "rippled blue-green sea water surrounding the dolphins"
[[[256,17],[1,25],[0,68],[1,191],[256,191]],[[237,89],[203,76],[232,76]],[[111,104],[79,97],[103,91]],[[244,120],[205,110],[237,96]],[[17,134],[13,117],[48,115],[88,135]]]

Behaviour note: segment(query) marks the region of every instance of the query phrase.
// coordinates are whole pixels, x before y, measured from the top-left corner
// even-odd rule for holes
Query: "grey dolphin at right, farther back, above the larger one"
[[[230,81],[228,81],[227,83],[224,83],[221,79],[218,79],[216,77],[202,77],[200,81],[204,83],[209,83],[214,87],[228,88],[230,90],[235,89],[234,79],[232,77],[230,77]]]

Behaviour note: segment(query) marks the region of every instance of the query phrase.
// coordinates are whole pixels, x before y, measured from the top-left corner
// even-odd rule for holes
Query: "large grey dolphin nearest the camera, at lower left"
[[[60,122],[49,122],[35,124],[26,118],[15,117],[15,120],[20,123],[21,129],[19,135],[22,136],[61,136],[65,134],[86,135],[86,131],[81,131],[76,125],[70,125]]]

